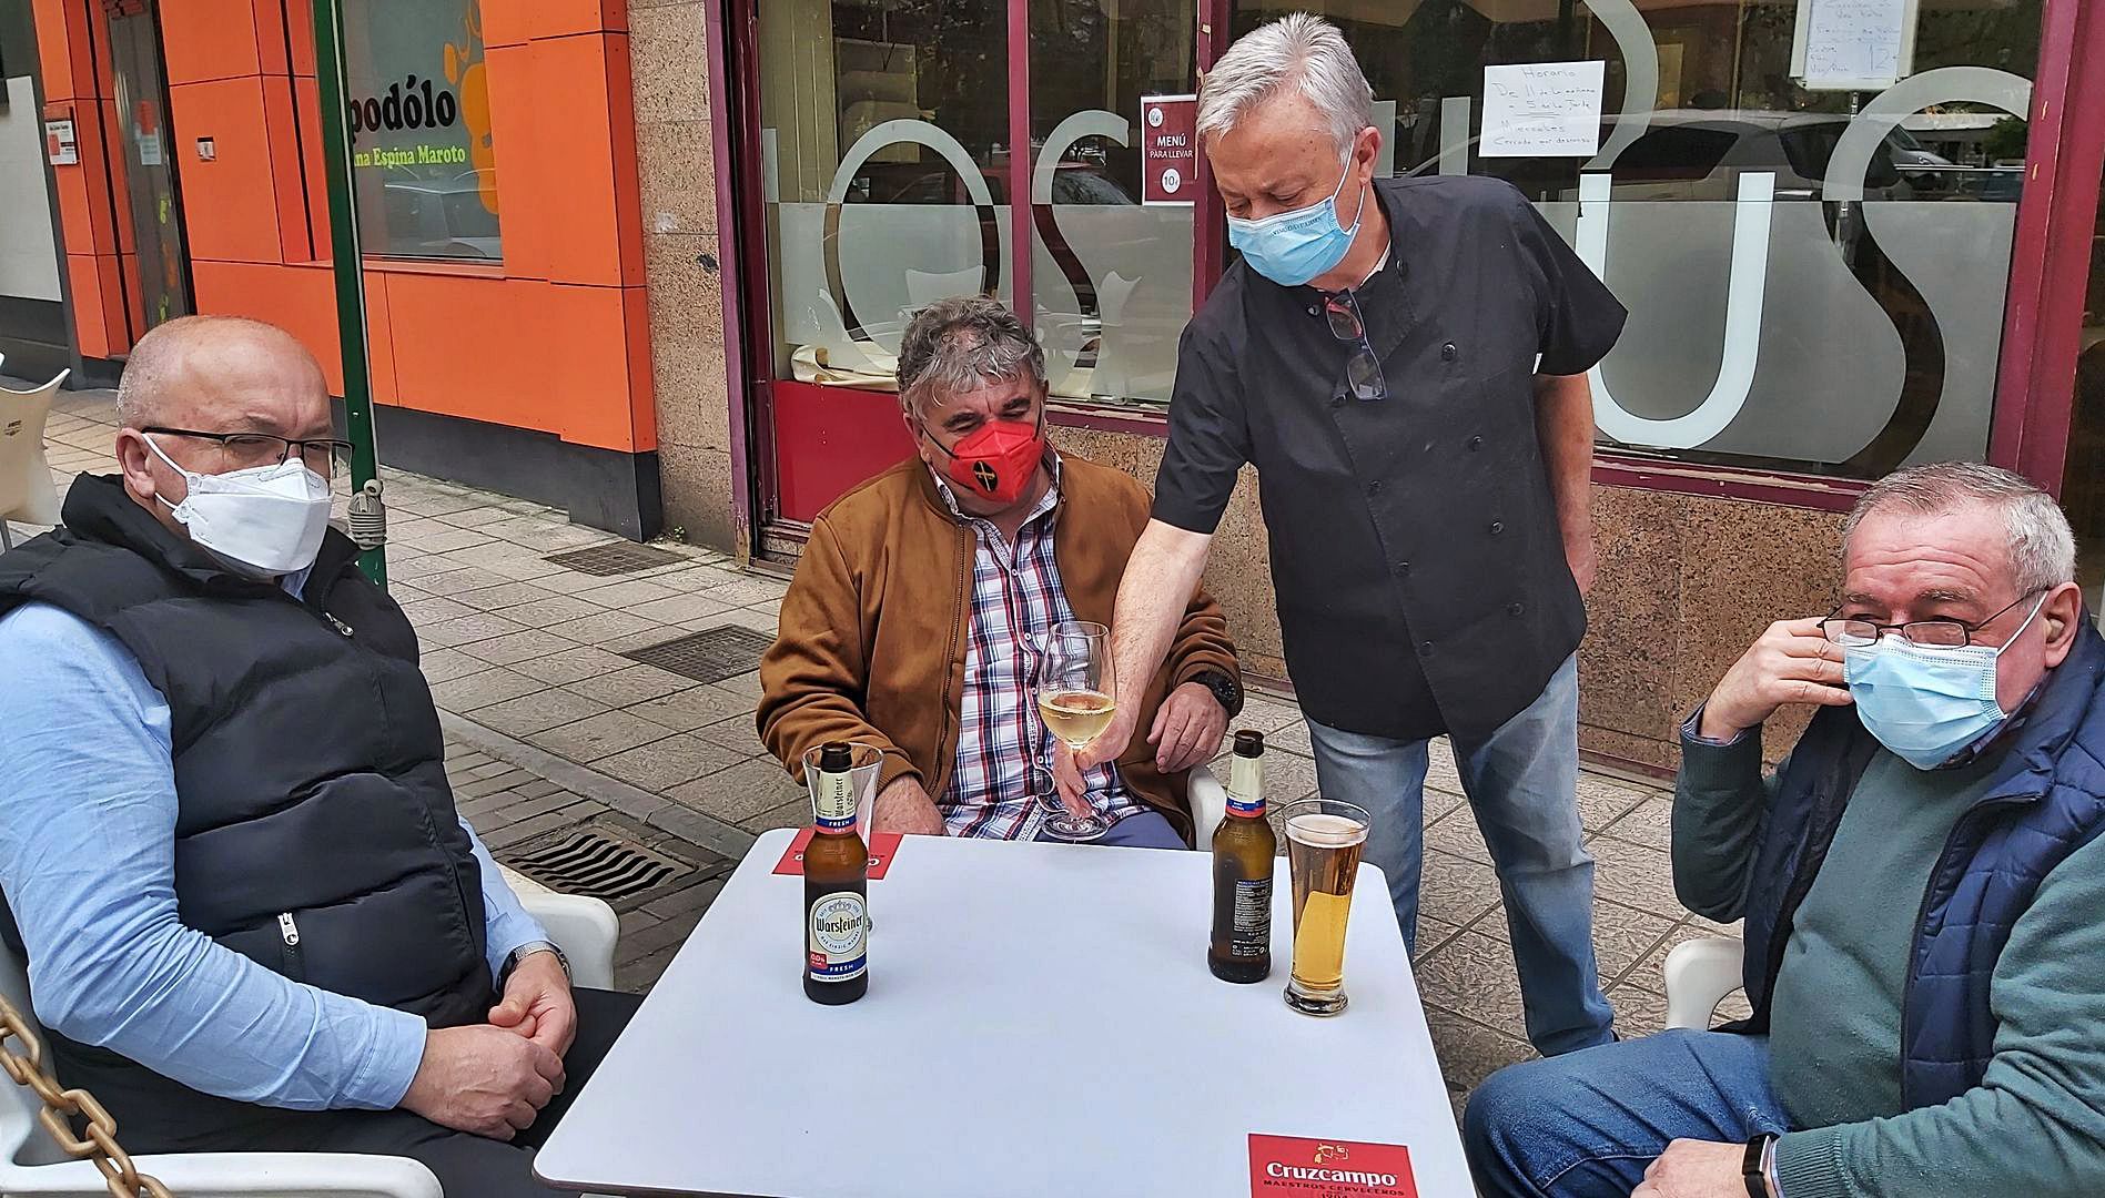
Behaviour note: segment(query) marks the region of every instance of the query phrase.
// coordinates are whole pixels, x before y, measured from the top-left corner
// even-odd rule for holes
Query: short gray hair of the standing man
[[[1343,156],[1362,128],[1375,124],[1375,88],[1345,34],[1309,13],[1280,17],[1236,38],[1198,93],[1198,139],[1210,141],[1236,126],[1252,107],[1295,88],[1330,122]]]

